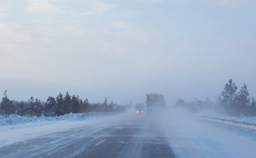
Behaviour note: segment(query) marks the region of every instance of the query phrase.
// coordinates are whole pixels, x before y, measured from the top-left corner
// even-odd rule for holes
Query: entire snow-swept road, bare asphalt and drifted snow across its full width
[[[256,139],[164,110],[2,126],[0,157],[255,157]]]

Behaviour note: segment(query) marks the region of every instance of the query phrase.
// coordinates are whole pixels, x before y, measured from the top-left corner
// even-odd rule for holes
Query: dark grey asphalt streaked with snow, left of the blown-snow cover
[[[134,115],[0,147],[0,157],[175,157],[155,119]]]

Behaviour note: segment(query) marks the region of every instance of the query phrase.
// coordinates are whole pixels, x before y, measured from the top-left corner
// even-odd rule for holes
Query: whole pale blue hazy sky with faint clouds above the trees
[[[256,97],[253,0],[0,0],[0,93],[46,101]]]

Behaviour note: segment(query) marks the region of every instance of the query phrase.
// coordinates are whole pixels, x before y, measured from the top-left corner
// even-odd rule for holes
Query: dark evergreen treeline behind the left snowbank
[[[111,112],[125,111],[129,105],[121,106],[110,102],[107,98],[104,103],[89,103],[88,99],[84,101],[79,95],[65,95],[59,93],[57,97],[48,97],[46,102],[38,98],[30,97],[28,101],[11,101],[7,97],[7,91],[3,94],[0,104],[0,115],[8,117],[11,114],[27,117],[55,117],[69,113],[89,113],[89,112]]]

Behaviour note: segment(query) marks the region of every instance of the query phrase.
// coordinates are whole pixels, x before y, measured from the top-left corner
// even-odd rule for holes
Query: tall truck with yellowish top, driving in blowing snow
[[[152,113],[154,110],[159,109],[159,107],[166,106],[166,101],[162,94],[147,94],[146,103],[147,113]]]

